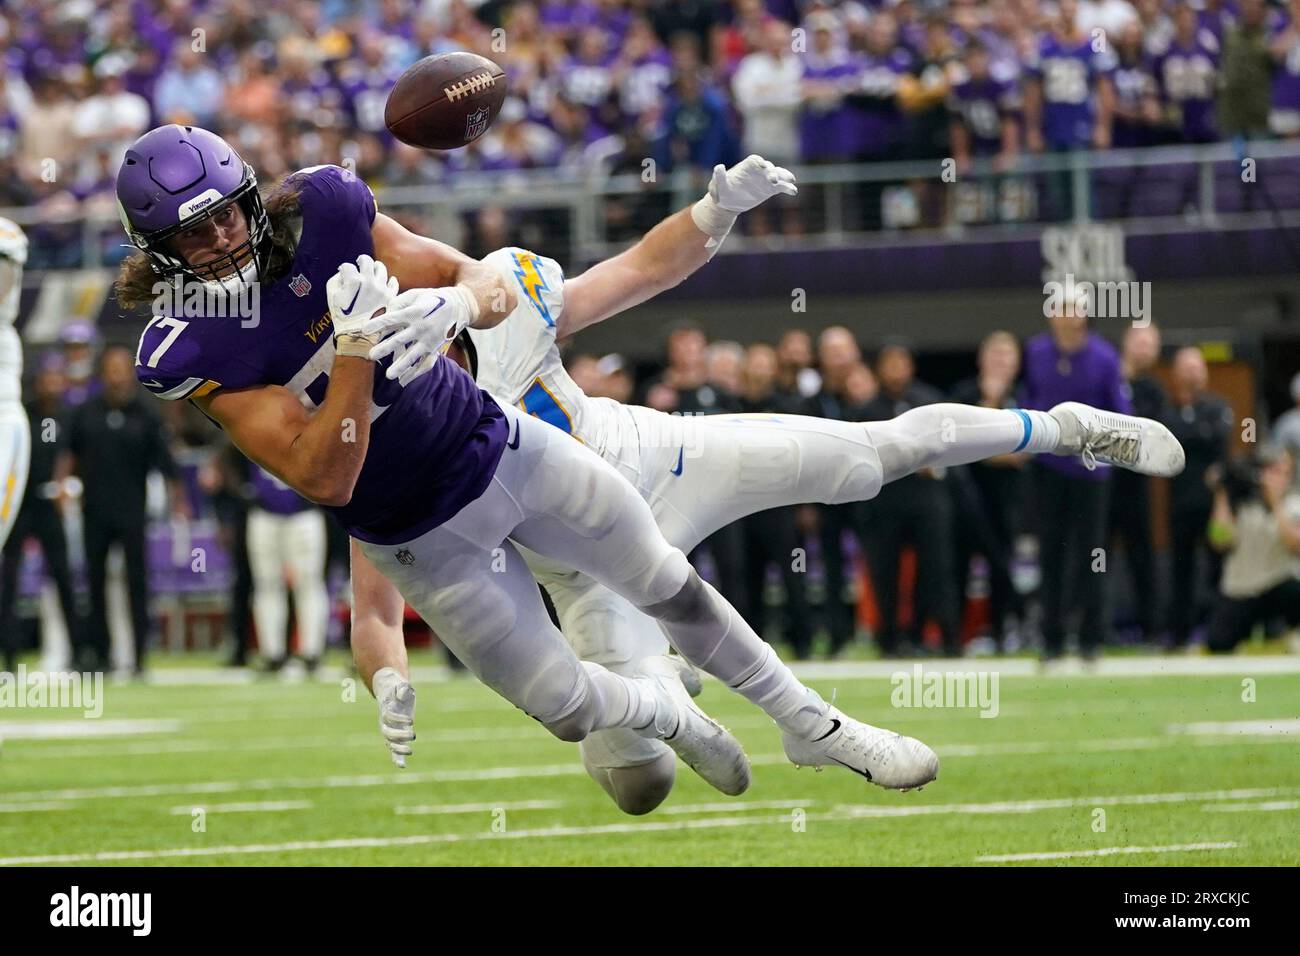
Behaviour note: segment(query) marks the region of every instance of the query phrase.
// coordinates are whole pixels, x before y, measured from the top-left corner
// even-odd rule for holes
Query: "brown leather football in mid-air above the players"
[[[476,53],[426,56],[398,77],[384,125],[407,146],[455,150],[491,126],[506,99],[506,72]]]

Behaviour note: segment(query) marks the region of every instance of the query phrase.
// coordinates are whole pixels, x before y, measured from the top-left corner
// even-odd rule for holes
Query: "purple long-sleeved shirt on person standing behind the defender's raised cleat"
[[[1083,402],[1096,408],[1132,412],[1119,371],[1119,354],[1101,336],[1089,332],[1076,352],[1057,347],[1050,332],[1024,343],[1024,376],[1020,380],[1020,407],[1046,411],[1061,402]],[[1043,463],[1070,477],[1101,481],[1110,467],[1098,464],[1088,471],[1078,455],[1044,455]]]

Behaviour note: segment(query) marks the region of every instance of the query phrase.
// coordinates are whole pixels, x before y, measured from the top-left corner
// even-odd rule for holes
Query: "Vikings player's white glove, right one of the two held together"
[[[370,360],[394,355],[387,377],[406,386],[433,368],[437,356],[477,317],[478,303],[463,286],[407,289],[384,315],[365,323],[361,334],[387,334],[370,349]]]

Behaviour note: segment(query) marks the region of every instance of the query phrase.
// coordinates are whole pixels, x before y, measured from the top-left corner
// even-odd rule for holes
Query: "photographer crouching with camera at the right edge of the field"
[[[1300,624],[1300,494],[1292,462],[1277,447],[1234,462],[1214,492],[1210,545],[1225,553],[1209,649],[1232,650],[1258,623]]]

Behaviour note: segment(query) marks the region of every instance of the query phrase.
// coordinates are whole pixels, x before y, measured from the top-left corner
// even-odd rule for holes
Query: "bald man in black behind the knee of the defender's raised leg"
[[[789,333],[788,333],[789,334]],[[797,354],[798,339],[786,343],[786,354]],[[803,402],[803,414],[836,421],[861,421],[862,406],[849,395],[849,377],[862,365],[858,342],[842,325],[832,325],[818,336],[820,389]],[[826,630],[831,636],[829,653],[835,657],[854,636],[854,600],[849,594],[844,562],[844,536],[855,529],[855,505],[818,505],[815,528],[822,549],[826,575],[826,597],[822,605]],[[805,512],[807,514],[807,512]]]

